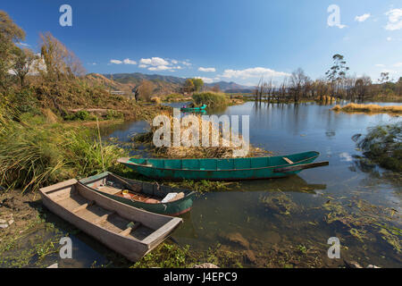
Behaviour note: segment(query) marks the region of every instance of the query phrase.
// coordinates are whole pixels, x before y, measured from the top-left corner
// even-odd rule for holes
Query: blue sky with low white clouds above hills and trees
[[[59,8],[70,4],[72,27]],[[340,22],[328,25],[331,4]],[[298,67],[313,79],[345,55],[350,73],[402,76],[402,3],[393,1],[3,1],[38,51],[50,31],[88,72],[144,72],[253,85]],[[125,61],[124,61],[125,60]]]

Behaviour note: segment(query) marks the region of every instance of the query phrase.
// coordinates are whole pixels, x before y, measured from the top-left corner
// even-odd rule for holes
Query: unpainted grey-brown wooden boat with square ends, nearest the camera
[[[144,257],[182,223],[178,217],[121,204],[74,179],[42,188],[40,195],[51,212],[131,261]]]

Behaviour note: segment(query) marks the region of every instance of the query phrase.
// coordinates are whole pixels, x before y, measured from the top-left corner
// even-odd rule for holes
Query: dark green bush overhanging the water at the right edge
[[[370,128],[358,147],[383,168],[402,172],[402,122]]]

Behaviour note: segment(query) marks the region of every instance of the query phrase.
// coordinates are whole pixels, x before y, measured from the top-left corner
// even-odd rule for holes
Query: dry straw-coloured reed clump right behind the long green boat
[[[247,147],[247,142],[242,138],[241,135],[239,135],[239,143],[237,143],[237,146],[234,146],[231,144],[231,142],[228,139],[223,138],[222,130],[216,130],[214,128],[214,125],[212,122],[205,121],[201,115],[197,114],[191,114],[188,115],[190,116],[193,120],[198,121],[199,125],[199,138],[198,138],[198,145],[199,147],[185,147],[183,146],[183,133],[187,133],[189,129],[191,129],[192,124],[190,124],[189,127],[181,127],[180,129],[180,138],[181,138],[181,144],[180,147],[174,147],[173,146],[173,122],[176,121],[177,119],[174,119],[172,117],[172,114],[163,114],[168,116],[171,122],[171,147],[155,147],[153,143],[154,139],[154,133],[156,130],[158,130],[160,127],[155,127],[152,126],[151,122],[151,130],[147,133],[140,134],[139,136],[136,136],[134,138],[135,141],[142,142],[142,143],[147,143],[152,146],[152,150],[154,151],[155,156],[161,156],[161,157],[166,157],[166,158],[232,158],[232,157],[247,157],[247,156],[266,156],[266,151],[263,149],[260,149],[258,147],[252,147],[251,145]],[[207,126],[209,130],[208,134],[203,134],[202,129],[203,129],[203,124],[205,124],[205,127]],[[163,126],[163,124],[161,124]],[[193,131],[196,131],[197,129],[194,129]],[[206,130],[206,128],[205,128]],[[196,131],[197,132],[197,131]],[[209,145],[211,146],[213,134],[214,132],[218,133],[218,138],[219,138],[219,147],[203,147],[202,146],[202,139],[203,136],[207,136],[209,138]],[[185,134],[186,134],[185,133]],[[193,134],[194,132],[190,133],[188,135],[188,139],[191,141],[193,139]],[[196,139],[195,139],[196,140]],[[234,152],[236,151],[236,152]]]

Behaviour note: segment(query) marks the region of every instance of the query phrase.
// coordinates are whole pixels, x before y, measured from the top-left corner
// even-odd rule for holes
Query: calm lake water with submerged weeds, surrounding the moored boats
[[[244,262],[247,266],[278,265],[281,258],[287,260],[284,257],[292,261],[285,266],[339,266],[343,259],[364,266],[402,266],[402,183],[357,159],[362,154],[351,139],[368,127],[400,119],[330,109],[331,105],[314,103],[247,102],[214,112],[249,115],[250,143],[255,147],[274,155],[314,150],[321,153],[318,161],[330,165],[285,179],[244,181],[225,191],[205,193],[183,215],[184,223],[173,239],[201,251],[251,250],[252,259]],[[104,135],[128,141],[144,130],[146,122],[126,122]],[[396,229],[390,231],[392,227]],[[340,241],[341,259],[327,256],[331,237]]]

